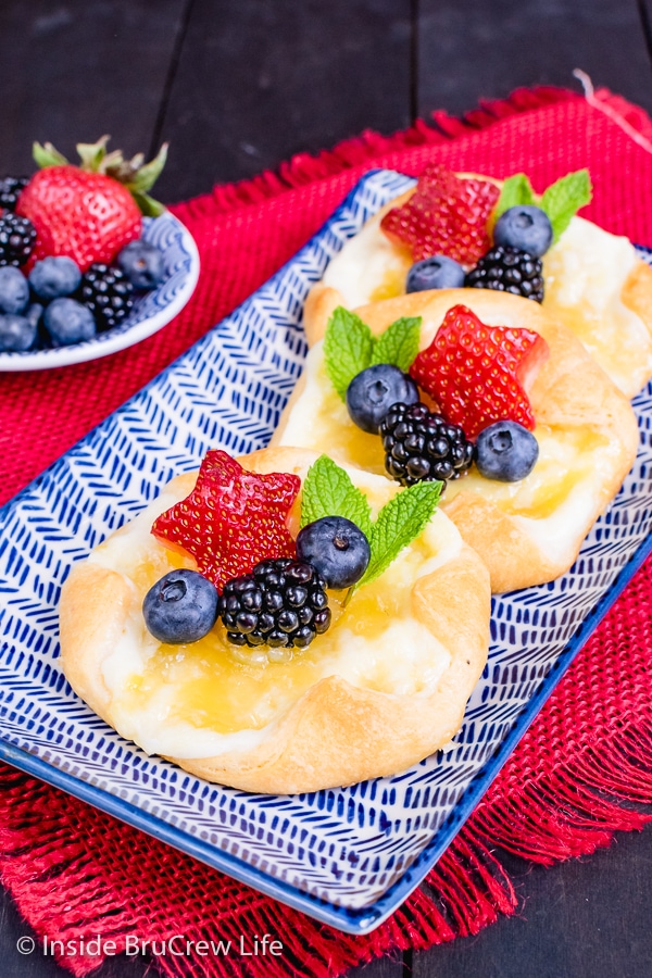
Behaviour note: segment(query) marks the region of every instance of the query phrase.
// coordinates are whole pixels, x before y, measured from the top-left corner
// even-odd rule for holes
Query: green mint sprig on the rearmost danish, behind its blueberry
[[[568,227],[570,218],[580,208],[590,202],[591,196],[591,178],[588,170],[577,170],[575,173],[566,174],[565,177],[551,184],[541,197],[535,193],[524,173],[516,173],[504,181],[491,216],[492,221],[497,221],[509,208],[519,204],[536,204],[548,214],[552,225],[553,241],[559,241]]]

